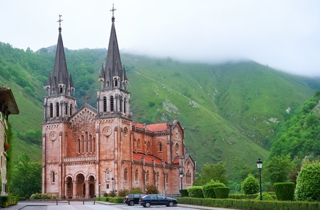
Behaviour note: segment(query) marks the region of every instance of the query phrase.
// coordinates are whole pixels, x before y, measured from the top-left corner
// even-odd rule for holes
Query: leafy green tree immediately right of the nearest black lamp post
[[[295,169],[289,155],[276,155],[265,166],[265,177],[272,184],[288,181],[289,173]]]

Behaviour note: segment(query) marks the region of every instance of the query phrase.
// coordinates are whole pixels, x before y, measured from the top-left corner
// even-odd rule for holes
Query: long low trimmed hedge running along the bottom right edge
[[[264,200],[236,200],[236,199],[212,199],[212,198],[175,198],[179,203],[190,205],[202,205],[210,207],[235,208],[246,210],[316,210],[320,208],[320,202],[304,201],[264,201]]]

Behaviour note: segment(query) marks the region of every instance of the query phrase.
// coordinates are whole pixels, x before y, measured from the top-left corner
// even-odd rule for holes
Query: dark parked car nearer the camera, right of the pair
[[[178,201],[173,198],[166,198],[159,194],[146,195],[139,200],[139,204],[143,207],[150,207],[150,205],[166,205],[173,206],[178,204]]]

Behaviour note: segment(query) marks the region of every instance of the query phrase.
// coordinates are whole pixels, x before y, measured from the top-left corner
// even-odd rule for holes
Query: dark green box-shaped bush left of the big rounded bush
[[[273,184],[278,200],[293,200],[295,186],[293,182],[281,182]]]

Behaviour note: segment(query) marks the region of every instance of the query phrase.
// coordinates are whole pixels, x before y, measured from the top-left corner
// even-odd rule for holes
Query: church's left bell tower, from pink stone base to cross
[[[68,76],[61,36],[61,15],[59,15],[59,36],[52,76],[45,83],[44,119],[42,124],[42,193],[59,192],[62,181],[62,162],[67,132],[71,129],[68,118],[77,110],[75,86]]]

